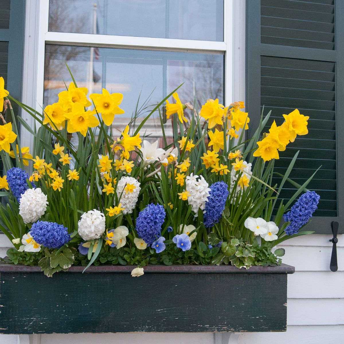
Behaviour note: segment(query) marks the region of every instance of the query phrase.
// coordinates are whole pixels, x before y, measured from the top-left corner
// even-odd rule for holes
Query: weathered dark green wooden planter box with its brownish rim
[[[294,267],[0,264],[0,333],[286,331]]]

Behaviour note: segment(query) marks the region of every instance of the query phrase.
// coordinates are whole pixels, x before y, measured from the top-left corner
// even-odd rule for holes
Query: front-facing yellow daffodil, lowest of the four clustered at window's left
[[[99,125],[99,121],[92,114],[92,111],[85,111],[84,106],[80,103],[72,105],[72,110],[66,113],[66,118],[69,119],[67,131],[80,132],[85,137],[88,128],[94,128]]]

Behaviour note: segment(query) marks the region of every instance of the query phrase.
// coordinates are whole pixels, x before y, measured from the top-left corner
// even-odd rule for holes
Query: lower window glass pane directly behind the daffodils
[[[123,94],[120,107],[125,113],[115,116],[114,129],[130,121],[137,103],[139,108],[148,106],[140,111],[144,118],[182,83],[178,90],[182,103],[194,103],[195,98],[201,103],[208,98],[223,102],[222,54],[46,45],[44,106],[55,103],[58,93],[66,89],[64,82],[67,86],[71,82],[65,61],[78,87],[88,88],[88,95],[101,93],[103,87],[110,93]],[[147,122],[149,133],[154,134],[154,128],[160,128],[159,112]],[[156,134],[160,136],[161,132]]]

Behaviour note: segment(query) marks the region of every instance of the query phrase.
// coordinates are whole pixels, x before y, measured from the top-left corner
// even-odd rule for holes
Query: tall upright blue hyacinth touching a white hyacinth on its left
[[[206,228],[213,227],[220,221],[229,195],[228,185],[225,182],[216,182],[210,185],[210,189],[208,202],[205,204],[204,225]]]

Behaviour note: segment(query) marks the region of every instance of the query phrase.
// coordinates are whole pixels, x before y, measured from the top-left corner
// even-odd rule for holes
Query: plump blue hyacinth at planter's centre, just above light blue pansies
[[[147,245],[152,245],[160,236],[165,216],[164,207],[160,204],[148,204],[146,208],[140,211],[136,219],[136,232]]]

